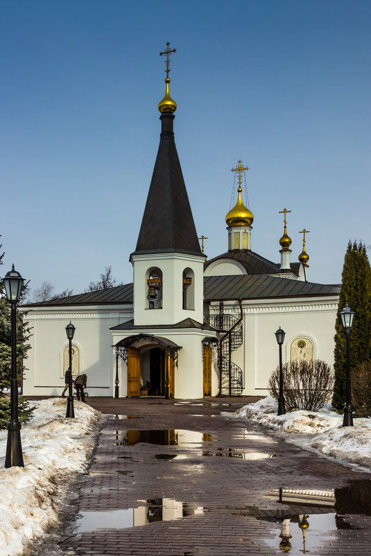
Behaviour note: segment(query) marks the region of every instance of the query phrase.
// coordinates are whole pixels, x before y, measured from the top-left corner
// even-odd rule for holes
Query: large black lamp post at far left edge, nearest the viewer
[[[3,278],[6,299],[10,303],[10,345],[12,354],[12,367],[10,378],[10,421],[8,428],[8,441],[6,444],[5,467],[24,467],[21,445],[21,424],[18,420],[18,379],[17,379],[17,303],[21,297],[24,279],[14,269]]]

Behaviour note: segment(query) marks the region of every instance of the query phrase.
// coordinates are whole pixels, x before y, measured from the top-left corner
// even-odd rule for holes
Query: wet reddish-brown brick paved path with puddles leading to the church
[[[118,416],[101,431],[78,499],[82,517],[60,544],[64,554],[261,556],[291,544],[289,553],[301,555],[309,523],[311,556],[371,555],[371,517],[339,515],[354,511],[359,496],[336,491],[336,513],[332,490],[363,480],[367,492],[370,474],[220,416],[245,399],[88,402]],[[318,494],[324,490],[328,500]]]

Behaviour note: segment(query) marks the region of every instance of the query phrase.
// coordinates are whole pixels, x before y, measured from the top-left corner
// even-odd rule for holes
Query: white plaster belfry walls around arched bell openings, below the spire
[[[136,326],[175,324],[186,318],[203,322],[203,263],[202,257],[179,253],[133,255],[134,261],[134,322]],[[162,309],[147,309],[148,286],[146,272],[157,267],[162,271]],[[183,270],[194,272],[195,308],[182,309]]]

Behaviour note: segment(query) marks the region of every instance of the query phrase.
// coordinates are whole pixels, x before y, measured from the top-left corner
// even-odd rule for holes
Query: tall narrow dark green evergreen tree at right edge
[[[335,384],[332,404],[345,406],[346,351],[345,331],[340,312],[348,305],[354,311],[350,329],[350,365],[352,368],[371,360],[371,268],[363,243],[348,243],[345,253],[335,333]]]

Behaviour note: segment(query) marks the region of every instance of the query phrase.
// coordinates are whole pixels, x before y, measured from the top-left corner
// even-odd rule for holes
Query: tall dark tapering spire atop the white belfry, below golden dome
[[[200,250],[175,147],[174,118],[169,112],[160,116],[159,149],[133,254],[178,252],[205,257]]]

